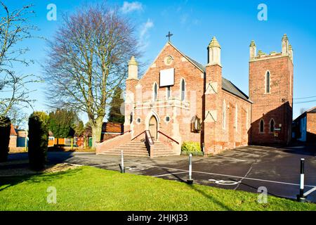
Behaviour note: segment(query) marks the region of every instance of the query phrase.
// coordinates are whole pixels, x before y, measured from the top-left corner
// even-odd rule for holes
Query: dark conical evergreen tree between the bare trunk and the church
[[[124,99],[121,98],[123,90],[117,87],[114,91],[114,96],[110,102],[110,113],[108,117],[109,122],[119,122],[124,124],[124,115],[121,114],[121,106],[124,104]]]

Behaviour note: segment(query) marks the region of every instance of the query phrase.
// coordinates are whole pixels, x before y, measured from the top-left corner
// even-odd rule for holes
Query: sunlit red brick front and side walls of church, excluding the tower
[[[166,56],[173,57],[173,63],[171,65],[165,65],[164,58],[166,58]],[[175,68],[175,85],[171,87],[171,99],[180,99],[180,79],[185,79],[185,101],[184,103],[176,101],[177,107],[172,107],[172,100],[169,102],[166,101],[166,87],[158,89],[158,101],[152,102],[153,84],[156,82],[159,87],[160,70],[169,68]],[[126,83],[126,90],[132,91],[135,94],[134,102],[138,102],[134,105],[136,109],[133,110],[134,115],[131,124],[131,127],[133,127],[132,136],[136,136],[147,129],[147,122],[150,119],[150,115],[154,114],[157,115],[159,131],[176,139],[180,144],[183,143],[183,141],[205,143],[206,153],[218,153],[220,150],[226,148],[247,145],[251,124],[251,103],[221,89],[221,68],[219,66],[209,67],[206,70],[208,70],[210,75],[215,74],[216,77],[218,77],[219,85],[217,96],[208,95],[206,99],[204,99],[204,91],[206,89],[204,72],[186,60],[173,46],[167,45],[138,84],[131,84],[129,80]],[[209,81],[214,82],[212,76],[207,80],[207,82]],[[223,99],[225,99],[227,106],[226,129],[223,129]],[[204,101],[206,101],[206,105],[203,104]],[[168,105],[169,103],[171,105]],[[236,104],[238,108],[237,129],[235,127]],[[231,105],[230,108],[228,108],[228,105]],[[202,131],[193,133],[191,131],[192,117],[197,115],[197,117],[203,121],[206,108],[208,108],[207,110],[218,111],[218,121],[216,123],[202,124]],[[246,112],[248,112],[248,116]],[[229,118],[230,114],[232,118]],[[167,115],[170,117],[169,122],[165,120]],[[137,122],[138,118],[140,118],[140,122]],[[248,122],[246,121],[247,118]],[[179,127],[176,127],[176,124],[178,124]],[[229,129],[229,126],[232,128]],[[128,127],[130,126],[125,124],[125,129]],[[177,129],[180,132],[180,136],[176,136],[175,134]],[[140,138],[143,139],[144,136]],[[172,141],[166,139],[166,137],[161,134],[158,134],[158,139],[168,145],[172,143]]]

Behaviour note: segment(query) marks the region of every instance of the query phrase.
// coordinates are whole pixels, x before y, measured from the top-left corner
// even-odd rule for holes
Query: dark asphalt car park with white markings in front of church
[[[192,179],[195,184],[232,190],[268,194],[296,199],[300,184],[300,160],[305,159],[305,187],[307,200],[316,203],[315,148],[303,146],[272,148],[247,146],[225,150],[210,157],[193,157]],[[11,160],[27,155],[10,155]],[[121,157],[93,153],[48,153],[50,163],[67,162],[101,169],[120,171]],[[186,182],[188,157],[166,158],[124,157],[126,173],[154,176]]]

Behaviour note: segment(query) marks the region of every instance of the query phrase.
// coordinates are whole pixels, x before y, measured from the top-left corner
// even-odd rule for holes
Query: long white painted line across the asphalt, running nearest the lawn
[[[141,163],[138,163],[138,162],[133,162],[133,163],[134,164],[138,164],[138,165],[143,165],[143,166],[146,166],[146,167],[157,167],[157,168],[162,168],[162,169],[173,169],[173,168],[169,168],[169,167],[159,167],[159,166],[153,166],[153,165],[145,165],[145,164],[141,164]],[[187,169],[173,169],[173,170],[188,172]],[[249,178],[249,177],[243,177],[243,176],[232,176],[232,175],[227,175],[227,174],[216,174],[216,173],[200,172],[200,171],[192,171],[192,172],[193,173],[199,173],[199,174],[216,175],[216,176],[227,176],[227,177],[239,178],[239,179],[244,179],[244,180],[263,181],[263,182],[275,183],[275,184],[285,184],[285,185],[291,185],[291,186],[300,186],[300,184],[293,184],[293,183],[287,183],[287,182],[281,182],[281,181],[270,181],[270,180],[265,180],[265,179],[256,179],[256,178]],[[305,185],[305,187],[316,188],[316,186],[312,186],[312,185]]]

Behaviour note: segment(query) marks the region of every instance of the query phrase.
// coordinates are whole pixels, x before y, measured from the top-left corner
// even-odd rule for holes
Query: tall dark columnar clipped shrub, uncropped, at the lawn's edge
[[[48,115],[34,112],[29,116],[29,166],[34,170],[45,168],[48,149]]]

